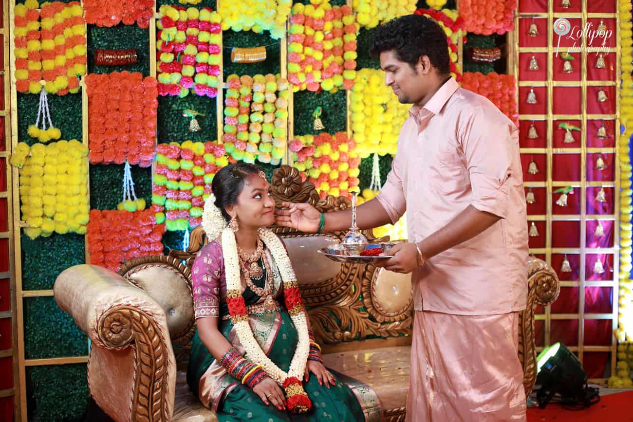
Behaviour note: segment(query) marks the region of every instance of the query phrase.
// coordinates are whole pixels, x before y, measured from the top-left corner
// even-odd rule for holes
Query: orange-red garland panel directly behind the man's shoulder
[[[461,87],[492,101],[518,127],[517,100],[515,99],[517,82],[513,76],[499,75],[494,71],[487,75],[481,72],[465,72]]]

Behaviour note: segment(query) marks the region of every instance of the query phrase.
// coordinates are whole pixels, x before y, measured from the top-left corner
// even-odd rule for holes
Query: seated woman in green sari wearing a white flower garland
[[[209,244],[192,267],[197,333],[187,382],[220,421],[363,421],[322,363],[254,164],[218,171],[203,214]],[[227,225],[228,222],[228,225]]]

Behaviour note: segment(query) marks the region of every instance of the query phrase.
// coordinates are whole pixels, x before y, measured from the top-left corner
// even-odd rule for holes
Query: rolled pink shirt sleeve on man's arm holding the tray
[[[471,205],[508,218],[516,128],[498,110],[480,107],[465,125],[461,141],[473,191]]]

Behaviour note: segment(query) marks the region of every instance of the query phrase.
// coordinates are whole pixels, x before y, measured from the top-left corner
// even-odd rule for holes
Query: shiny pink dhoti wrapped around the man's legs
[[[415,311],[408,422],[525,421],[518,313]]]

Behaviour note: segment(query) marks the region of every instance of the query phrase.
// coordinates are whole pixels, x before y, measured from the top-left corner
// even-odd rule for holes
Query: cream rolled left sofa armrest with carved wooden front
[[[77,265],[55,281],[54,297],[92,341],[92,397],[116,421],[169,421],[176,364],[165,313],[113,271]]]

